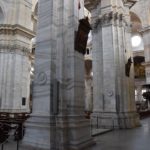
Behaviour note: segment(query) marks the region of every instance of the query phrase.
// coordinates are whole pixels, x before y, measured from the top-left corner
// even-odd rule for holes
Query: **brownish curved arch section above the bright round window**
[[[132,33],[137,33],[142,29],[142,21],[134,12],[130,12]]]

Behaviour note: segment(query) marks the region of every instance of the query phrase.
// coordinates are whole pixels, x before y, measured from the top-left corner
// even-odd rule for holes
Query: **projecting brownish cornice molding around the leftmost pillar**
[[[35,37],[35,32],[21,25],[0,24],[0,34],[23,35],[29,39]]]

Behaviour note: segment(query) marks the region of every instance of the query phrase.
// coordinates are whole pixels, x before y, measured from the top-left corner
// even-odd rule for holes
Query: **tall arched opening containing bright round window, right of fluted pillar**
[[[142,21],[134,13],[130,12],[131,17],[131,45],[134,60],[134,78],[135,78],[135,102],[137,111],[140,113],[144,99],[142,93],[144,91],[143,84],[145,83],[145,62],[144,58],[144,42],[140,33],[142,30]]]

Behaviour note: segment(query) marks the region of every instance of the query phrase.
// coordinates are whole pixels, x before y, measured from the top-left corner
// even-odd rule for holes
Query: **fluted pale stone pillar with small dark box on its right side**
[[[92,9],[92,22],[92,124],[111,129],[135,127],[139,118],[134,98],[129,8],[121,0],[102,0]]]

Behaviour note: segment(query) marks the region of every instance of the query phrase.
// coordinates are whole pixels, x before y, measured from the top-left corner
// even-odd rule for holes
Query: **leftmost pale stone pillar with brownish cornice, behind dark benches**
[[[31,3],[2,0],[1,4],[7,9],[0,9],[5,13],[0,14],[0,111],[29,112],[29,56],[34,33],[26,22],[31,22]]]

